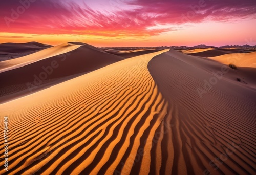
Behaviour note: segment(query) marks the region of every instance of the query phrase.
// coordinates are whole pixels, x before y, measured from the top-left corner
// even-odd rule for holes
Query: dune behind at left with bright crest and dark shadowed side
[[[10,60],[16,65],[3,69],[8,71],[0,73],[0,80],[5,84],[0,87],[0,102],[36,92],[46,86],[94,71],[122,59],[91,45],[66,43]],[[23,61],[27,62],[22,63]],[[16,69],[13,69],[14,67]]]

